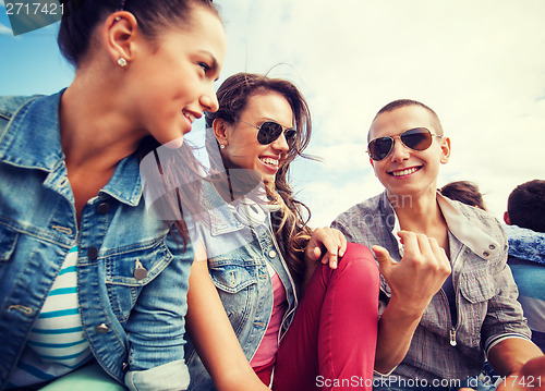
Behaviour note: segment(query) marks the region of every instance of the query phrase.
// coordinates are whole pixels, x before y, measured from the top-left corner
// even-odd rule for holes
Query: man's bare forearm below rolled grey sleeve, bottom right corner
[[[491,349],[488,362],[498,375],[508,376],[519,371],[530,359],[542,355],[532,341],[509,338]]]

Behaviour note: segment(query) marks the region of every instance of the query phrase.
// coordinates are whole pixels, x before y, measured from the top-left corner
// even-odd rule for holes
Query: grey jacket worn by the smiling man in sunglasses
[[[506,265],[508,245],[499,222],[439,193],[437,203],[449,229],[457,319],[445,291],[439,290],[424,311],[404,359],[393,369],[401,378],[433,381],[476,376],[484,352],[494,344],[505,338],[530,338],[517,302],[517,285]],[[399,221],[386,192],[343,212],[331,227],[342,231],[349,242],[380,245],[393,260],[402,258],[396,239]],[[380,276],[379,314],[390,295]]]

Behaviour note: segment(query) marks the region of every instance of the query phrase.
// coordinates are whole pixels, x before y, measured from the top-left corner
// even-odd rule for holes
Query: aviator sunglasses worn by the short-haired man
[[[410,129],[409,131],[401,133],[399,136],[378,137],[373,139],[367,145],[367,154],[370,154],[371,158],[375,161],[385,159],[393,149],[395,138],[399,138],[407,148],[413,150],[426,150],[432,145],[434,137],[441,138],[443,136],[433,134],[425,127]]]

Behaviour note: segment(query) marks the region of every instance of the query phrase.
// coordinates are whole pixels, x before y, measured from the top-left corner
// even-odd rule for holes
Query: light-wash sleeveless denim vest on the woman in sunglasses
[[[227,204],[211,185],[208,186],[205,204],[209,210],[209,221],[203,223],[198,231],[206,247],[210,278],[250,362],[265,335],[272,313],[272,285],[267,262],[278,273],[288,298],[279,340],[293,319],[298,296],[272,234],[266,205],[250,203],[257,219],[249,221],[241,218],[245,201],[247,198]],[[216,390],[191,340],[186,345],[185,358],[191,375],[190,390]]]

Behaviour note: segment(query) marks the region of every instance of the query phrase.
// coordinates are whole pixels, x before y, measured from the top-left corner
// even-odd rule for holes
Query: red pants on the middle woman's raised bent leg
[[[349,243],[337,269],[319,265],[280,342],[275,391],[371,390],[378,325],[378,269]]]

